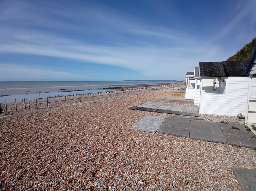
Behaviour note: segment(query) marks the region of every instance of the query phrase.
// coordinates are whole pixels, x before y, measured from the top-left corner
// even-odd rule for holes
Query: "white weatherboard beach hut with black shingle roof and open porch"
[[[249,78],[247,61],[200,62],[199,113],[246,115]]]

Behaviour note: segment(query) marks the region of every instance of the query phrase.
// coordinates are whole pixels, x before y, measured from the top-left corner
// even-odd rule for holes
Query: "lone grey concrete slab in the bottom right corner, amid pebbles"
[[[232,168],[242,191],[256,190],[256,169]]]

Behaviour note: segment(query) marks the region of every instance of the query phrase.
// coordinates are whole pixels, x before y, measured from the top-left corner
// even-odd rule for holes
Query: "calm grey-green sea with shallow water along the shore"
[[[17,81],[0,82],[0,103],[21,102],[22,99],[55,97],[69,94],[90,94],[112,91],[114,87],[130,87],[136,85],[156,85],[171,83],[172,81]],[[109,89],[104,89],[109,88]]]

